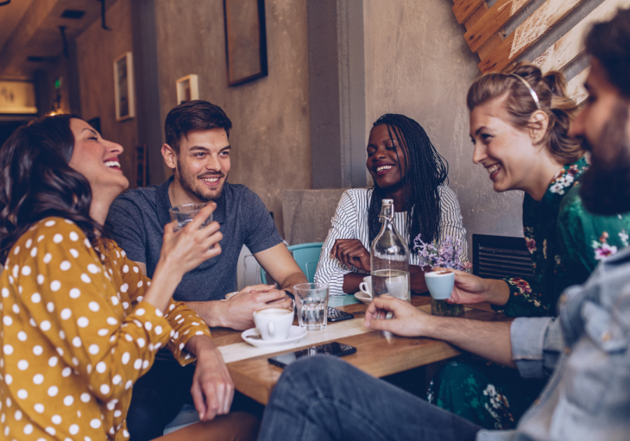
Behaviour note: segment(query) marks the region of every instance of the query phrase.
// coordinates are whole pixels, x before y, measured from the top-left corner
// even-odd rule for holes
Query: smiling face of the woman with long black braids
[[[396,141],[393,130],[392,127],[393,142],[386,124],[372,127],[370,139],[367,140],[365,166],[374,183],[384,189],[397,186],[402,182],[402,176],[405,176],[405,152]]]

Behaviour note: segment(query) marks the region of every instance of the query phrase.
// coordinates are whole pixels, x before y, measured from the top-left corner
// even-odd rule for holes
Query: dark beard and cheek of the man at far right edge
[[[580,196],[592,214],[612,216],[630,211],[628,116],[629,102],[620,99],[598,146],[587,145],[591,166],[580,178]]]

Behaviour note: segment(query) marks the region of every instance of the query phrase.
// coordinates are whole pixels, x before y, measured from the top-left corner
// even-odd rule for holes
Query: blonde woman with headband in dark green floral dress
[[[458,272],[450,302],[489,302],[507,316],[554,316],[568,286],[628,244],[630,216],[594,216],[582,205],[587,169],[582,141],[568,136],[577,106],[559,72],[521,63],[482,76],[468,92],[473,161],[497,192],[522,190],[523,226],[533,276],[481,279]],[[484,428],[513,428],[546,381],[484,360],[456,360],[438,372],[428,399]]]

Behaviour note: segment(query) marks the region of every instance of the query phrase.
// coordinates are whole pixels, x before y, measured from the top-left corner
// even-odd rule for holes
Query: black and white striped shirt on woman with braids
[[[440,186],[440,241],[446,236],[461,239],[463,246],[462,260],[468,261],[468,246],[466,244],[466,230],[463,228],[461,212],[457,196],[447,186]],[[339,200],[337,212],[332,216],[332,227],[321,249],[319,263],[315,273],[315,281],[328,283],[331,295],[344,294],[344,275],[349,272],[366,273],[356,267],[348,267],[337,258],[330,258],[330,250],[337,239],[359,239],[361,244],[370,251],[370,232],[367,228],[367,209],[370,207],[372,189],[351,188],[346,190]],[[395,207],[394,207],[395,209]],[[409,243],[407,233],[407,213],[394,213],[396,230]],[[409,265],[422,265],[418,255],[409,253]]]

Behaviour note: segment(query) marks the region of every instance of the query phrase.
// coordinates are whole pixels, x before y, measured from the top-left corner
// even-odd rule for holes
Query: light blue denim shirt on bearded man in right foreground
[[[630,248],[567,288],[558,311],[512,322],[521,375],[551,378],[516,430],[481,430],[478,441],[630,440]]]

